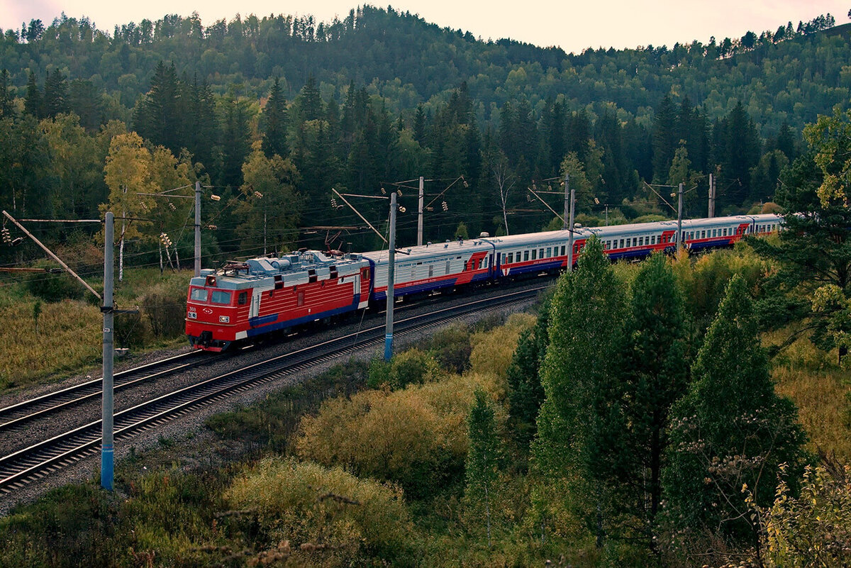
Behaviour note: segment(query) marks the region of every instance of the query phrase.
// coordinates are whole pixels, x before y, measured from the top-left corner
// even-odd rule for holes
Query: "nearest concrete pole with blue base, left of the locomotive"
[[[100,486],[112,491],[112,472],[114,449],[112,446],[112,362],[115,355],[112,327],[114,323],[112,304],[112,273],[115,269],[115,259],[112,247],[114,246],[115,219],[111,211],[106,212],[104,222],[104,304],[100,311],[104,315],[104,346],[103,346],[103,413],[101,415],[101,426],[103,429],[103,440],[100,442]]]

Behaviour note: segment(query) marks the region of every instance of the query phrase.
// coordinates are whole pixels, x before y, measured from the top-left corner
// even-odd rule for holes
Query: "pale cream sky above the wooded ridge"
[[[376,2],[374,5],[386,6]],[[20,29],[21,22],[42,20],[48,25],[65,12],[68,17],[86,16],[100,30],[117,24],[158,20],[165,14],[201,16],[204,26],[237,12],[256,14],[312,14],[318,21],[346,17],[357,0],[0,0],[0,28]],[[776,31],[787,21],[832,14],[837,25],[848,23],[848,2],[837,0],[505,0],[463,2],[459,0],[399,0],[394,9],[419,14],[429,23],[470,31],[484,40],[511,37],[542,47],[555,45],[567,52],[585,48],[635,48],[647,45],[702,43],[714,36],[742,37]]]

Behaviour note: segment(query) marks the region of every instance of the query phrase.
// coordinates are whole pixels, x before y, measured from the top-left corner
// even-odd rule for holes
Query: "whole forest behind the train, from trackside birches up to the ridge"
[[[399,190],[400,242],[413,241],[420,176],[431,240],[542,229],[553,216],[527,189],[557,193],[564,173],[585,224],[671,216],[660,197],[681,182],[686,215],[700,217],[709,174],[717,212],[746,212],[771,201],[803,125],[849,99],[848,30],[834,24],[565,54],[369,6],[329,23],[168,15],[111,33],[64,14],[32,20],[0,34],[0,207],[146,219],[122,231],[140,264],[162,263],[163,242],[168,262],[191,254],[190,204],[140,194],[195,181],[218,199],[205,196],[205,263],[378,247],[332,188]],[[386,219],[379,202],[353,201]],[[23,247],[0,254],[37,254]]]

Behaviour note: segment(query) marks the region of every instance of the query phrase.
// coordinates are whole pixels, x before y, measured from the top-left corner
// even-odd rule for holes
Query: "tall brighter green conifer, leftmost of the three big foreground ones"
[[[623,427],[613,402],[621,398],[625,302],[597,238],[585,245],[576,270],[559,280],[550,313],[535,471],[559,491],[552,499],[578,501],[573,506],[596,526],[602,545],[614,522],[613,460],[620,455],[609,435]]]

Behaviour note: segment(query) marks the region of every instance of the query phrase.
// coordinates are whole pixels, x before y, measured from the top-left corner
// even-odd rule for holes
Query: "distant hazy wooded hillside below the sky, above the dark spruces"
[[[393,111],[446,101],[467,82],[479,102],[480,121],[492,120],[505,100],[521,95],[538,111],[545,99],[563,96],[573,110],[612,106],[621,117],[648,119],[662,96],[674,93],[703,106],[711,120],[740,100],[766,133],[774,133],[784,121],[800,129],[849,98],[851,75],[842,71],[851,63],[848,25],[829,32],[818,27],[805,35],[791,33],[790,24],[784,35],[774,32],[770,39],[765,33],[757,37],[757,31],[749,48],[745,36],[565,54],[511,40],[483,42],[470,31],[370,6],[342,21],[252,14],[205,26],[197,16],[168,15],[112,32],[63,16],[43,30],[31,24],[20,39],[6,31],[0,67],[9,70],[20,96],[30,71],[43,77],[59,70],[91,81],[125,108],[146,92],[160,60],[173,61],[179,75],[206,80],[214,92],[243,84],[246,94],[258,98],[271,77],[282,77],[284,93],[292,98],[312,74],[323,95],[334,94],[338,101],[355,82],[386,97]],[[735,55],[727,59],[730,54]]]

